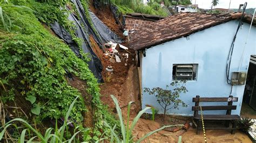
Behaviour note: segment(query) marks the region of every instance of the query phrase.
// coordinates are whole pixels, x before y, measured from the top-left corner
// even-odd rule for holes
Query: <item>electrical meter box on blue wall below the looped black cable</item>
[[[246,72],[233,72],[232,74],[232,85],[244,85],[246,82],[247,73]]]

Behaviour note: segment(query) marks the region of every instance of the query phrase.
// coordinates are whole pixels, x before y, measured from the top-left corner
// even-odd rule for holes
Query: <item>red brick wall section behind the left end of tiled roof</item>
[[[153,23],[152,20],[145,20],[134,17],[125,17],[125,29],[131,30],[133,28],[138,29],[141,26],[145,26]]]

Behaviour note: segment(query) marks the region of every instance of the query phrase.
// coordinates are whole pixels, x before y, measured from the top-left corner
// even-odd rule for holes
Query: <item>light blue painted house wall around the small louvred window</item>
[[[191,111],[191,106],[194,105],[192,98],[196,95],[201,97],[228,97],[231,92],[231,85],[226,83],[226,62],[237,26],[238,21],[233,20],[191,34],[189,40],[179,38],[147,49],[146,57],[142,58],[142,88],[164,88],[166,84],[170,84],[172,82],[173,64],[198,63],[197,81],[187,81],[186,88],[188,92],[181,94],[181,99],[188,107],[180,107],[179,110],[172,110],[168,113],[184,116],[193,115]],[[238,32],[231,61],[231,75],[232,71],[238,71],[249,28],[250,25],[245,23]],[[252,27],[240,71],[248,70],[250,55],[255,55],[255,50],[256,27]],[[239,101],[234,103],[234,105],[237,105],[237,110],[233,110],[232,114],[240,114],[244,88],[245,85],[233,86],[232,95],[238,97]],[[143,92],[142,109],[145,108],[145,104],[153,105],[159,109],[159,113],[163,113],[163,109],[157,103],[156,98]],[[227,103],[219,104],[226,105]],[[207,105],[211,105],[211,103],[207,103]],[[225,111],[217,112],[219,114],[225,113]]]

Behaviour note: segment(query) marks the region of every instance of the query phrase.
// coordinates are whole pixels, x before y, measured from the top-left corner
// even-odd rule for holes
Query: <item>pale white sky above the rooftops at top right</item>
[[[198,4],[199,8],[203,9],[210,9],[212,5],[212,0],[192,0],[192,4],[195,2]],[[230,5],[231,9],[238,9],[239,4],[244,4],[245,2],[247,2],[246,9],[256,8],[256,0],[231,0],[231,4],[230,0],[219,0],[219,4],[215,6],[215,8],[228,9],[228,6]]]

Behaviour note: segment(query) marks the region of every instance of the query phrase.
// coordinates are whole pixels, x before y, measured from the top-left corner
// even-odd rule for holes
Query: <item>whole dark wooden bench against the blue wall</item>
[[[237,109],[236,105],[232,105],[233,102],[237,102],[238,97],[202,97],[196,96],[193,98],[195,105],[192,106],[192,111],[194,111],[194,123],[197,127],[197,134],[202,130],[202,120],[201,120],[201,110],[226,110],[226,115],[204,115],[204,126],[207,129],[228,129],[234,134],[237,129],[237,121],[240,119],[238,115],[231,115],[231,111]],[[199,102],[227,102],[227,105],[216,105],[216,106],[199,106]],[[201,105],[200,103],[200,105]],[[212,121],[213,125],[207,124],[207,121]],[[224,122],[224,125],[218,125],[216,123]]]

